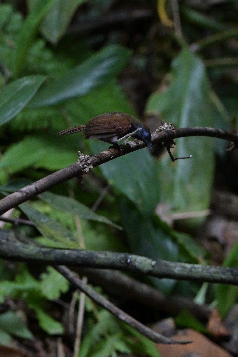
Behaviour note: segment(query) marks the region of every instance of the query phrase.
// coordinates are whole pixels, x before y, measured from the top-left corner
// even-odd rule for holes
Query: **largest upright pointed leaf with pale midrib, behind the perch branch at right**
[[[172,82],[165,92],[154,93],[147,112],[157,112],[175,127],[213,126],[214,115],[205,67],[187,48],[173,61]],[[162,201],[178,211],[207,208],[214,169],[214,141],[211,138],[178,139],[176,156],[192,154],[189,160],[172,164],[167,153],[158,162]]]

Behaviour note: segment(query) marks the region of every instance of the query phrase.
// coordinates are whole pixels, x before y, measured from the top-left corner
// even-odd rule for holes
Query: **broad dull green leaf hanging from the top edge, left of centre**
[[[38,0],[30,0],[30,6]],[[64,34],[75,10],[87,0],[56,0],[40,25],[43,36],[52,44],[56,44]]]

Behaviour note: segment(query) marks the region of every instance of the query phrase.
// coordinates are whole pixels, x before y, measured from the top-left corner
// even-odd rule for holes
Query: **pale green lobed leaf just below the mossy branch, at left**
[[[53,267],[47,267],[47,272],[40,275],[41,294],[48,300],[58,299],[61,293],[69,289],[68,280]]]

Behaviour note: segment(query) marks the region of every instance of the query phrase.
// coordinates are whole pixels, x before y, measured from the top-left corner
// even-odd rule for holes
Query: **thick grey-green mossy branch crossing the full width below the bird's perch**
[[[152,260],[129,253],[41,247],[19,242],[8,231],[1,231],[0,257],[49,265],[118,269],[158,278],[238,285],[238,268]]]

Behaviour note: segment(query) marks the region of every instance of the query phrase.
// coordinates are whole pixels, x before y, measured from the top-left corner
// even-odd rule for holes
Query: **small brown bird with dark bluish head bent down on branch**
[[[130,114],[122,112],[101,114],[91,119],[86,125],[74,126],[57,134],[74,134],[80,131],[83,132],[85,139],[99,139],[119,148],[120,140],[133,136],[144,141],[149,150],[153,151],[150,129]]]

